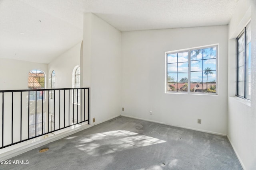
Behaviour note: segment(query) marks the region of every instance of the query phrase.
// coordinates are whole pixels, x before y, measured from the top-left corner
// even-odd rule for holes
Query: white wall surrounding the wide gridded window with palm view
[[[122,32],[121,114],[227,134],[227,39],[228,26]],[[216,43],[218,96],[164,93],[166,51]],[[198,118],[202,124],[197,123]]]

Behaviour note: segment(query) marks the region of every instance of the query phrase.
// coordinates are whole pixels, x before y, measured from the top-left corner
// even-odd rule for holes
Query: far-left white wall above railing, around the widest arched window
[[[28,73],[39,69],[45,73],[48,87],[48,64],[0,58],[0,90],[28,89]]]

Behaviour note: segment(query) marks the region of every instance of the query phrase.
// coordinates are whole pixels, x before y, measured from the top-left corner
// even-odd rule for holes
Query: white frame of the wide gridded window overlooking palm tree
[[[218,44],[213,45],[206,45],[201,47],[194,47],[194,48],[188,48],[188,49],[181,49],[181,50],[175,50],[175,51],[168,51],[165,52],[165,93],[166,94],[200,94],[200,95],[218,95]],[[208,92],[191,92],[190,91],[190,74],[191,74],[191,68],[190,68],[190,51],[198,50],[198,49],[206,49],[216,47],[216,93],[208,93]],[[168,91],[168,54],[174,54],[174,53],[182,53],[182,52],[188,52],[188,91],[187,92],[177,92],[177,91]],[[203,59],[202,59],[203,61]],[[202,72],[204,72],[202,68]],[[178,80],[177,80],[178,82]],[[202,82],[204,84],[204,82]]]

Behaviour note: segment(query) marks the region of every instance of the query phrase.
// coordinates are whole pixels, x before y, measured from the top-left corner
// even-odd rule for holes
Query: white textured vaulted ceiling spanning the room
[[[0,57],[49,63],[92,12],[120,31],[227,25],[238,0],[1,0]],[[42,22],[39,22],[41,20]]]

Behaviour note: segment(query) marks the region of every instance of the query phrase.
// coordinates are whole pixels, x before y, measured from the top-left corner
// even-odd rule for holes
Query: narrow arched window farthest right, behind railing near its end
[[[80,66],[76,66],[73,70],[73,88],[80,88]],[[73,90],[73,103],[80,104],[80,90]]]

